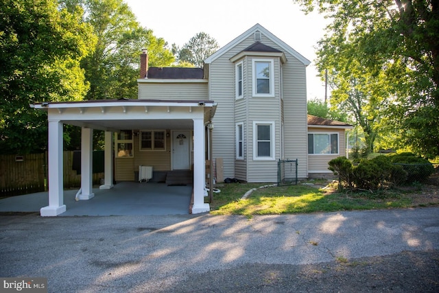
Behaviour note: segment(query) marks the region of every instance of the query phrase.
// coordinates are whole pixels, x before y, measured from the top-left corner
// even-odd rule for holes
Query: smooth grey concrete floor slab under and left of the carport
[[[189,214],[192,185],[118,183],[112,189],[93,189],[89,200],[75,200],[78,189],[64,191],[65,215],[185,215]],[[49,204],[47,192],[0,200],[0,212],[40,212]]]

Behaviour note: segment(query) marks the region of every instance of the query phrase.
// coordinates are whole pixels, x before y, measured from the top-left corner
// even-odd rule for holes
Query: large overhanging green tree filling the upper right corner
[[[307,12],[318,8],[332,20],[320,42],[320,56],[345,57],[346,67],[355,60],[367,78],[382,75],[385,93],[380,98],[387,100],[388,131],[399,132],[401,144],[424,156],[439,154],[438,1],[294,1]]]

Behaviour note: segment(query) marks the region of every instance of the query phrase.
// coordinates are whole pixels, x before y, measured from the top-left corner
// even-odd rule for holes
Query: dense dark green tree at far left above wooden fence
[[[0,2],[0,149],[29,153],[47,145],[47,115],[33,101],[73,101],[88,89],[80,60],[95,45],[82,12],[56,0]]]

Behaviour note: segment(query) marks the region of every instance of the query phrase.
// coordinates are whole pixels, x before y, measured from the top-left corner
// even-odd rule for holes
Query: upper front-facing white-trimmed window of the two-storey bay
[[[253,96],[274,97],[272,59],[253,59]]]

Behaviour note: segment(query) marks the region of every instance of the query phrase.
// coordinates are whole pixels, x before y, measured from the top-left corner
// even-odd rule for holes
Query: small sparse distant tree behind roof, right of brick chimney
[[[178,51],[179,62],[189,62],[196,67],[203,67],[204,59],[211,56],[219,49],[219,45],[215,38],[209,36],[205,32],[195,34],[189,42],[187,42],[181,49],[174,48]]]

